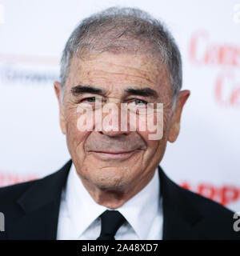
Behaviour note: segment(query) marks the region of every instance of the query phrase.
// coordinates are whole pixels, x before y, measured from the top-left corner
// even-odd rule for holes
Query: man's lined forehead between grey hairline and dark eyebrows
[[[87,57],[74,57],[66,80],[69,89],[78,84],[91,86],[149,86],[170,90],[166,65],[150,54],[93,52]]]

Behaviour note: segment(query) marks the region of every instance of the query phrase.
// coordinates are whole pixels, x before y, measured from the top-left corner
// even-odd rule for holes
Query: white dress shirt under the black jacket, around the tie
[[[162,198],[159,198],[158,168],[154,177],[140,191],[117,209],[127,220],[115,234],[115,240],[161,240]],[[62,190],[58,216],[58,240],[96,240],[101,231],[99,215],[105,210],[91,198],[78,177],[74,163]]]

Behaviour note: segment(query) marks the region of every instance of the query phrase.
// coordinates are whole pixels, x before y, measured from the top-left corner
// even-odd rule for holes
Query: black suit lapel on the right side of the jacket
[[[172,182],[160,166],[158,174],[163,207],[163,240],[204,238],[195,228],[202,221],[202,214],[186,198],[186,191]]]

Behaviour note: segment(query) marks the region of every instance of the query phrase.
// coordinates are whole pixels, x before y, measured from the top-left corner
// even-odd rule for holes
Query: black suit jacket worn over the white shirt
[[[72,162],[31,182],[0,188],[5,232],[0,239],[56,239],[62,188]],[[240,239],[234,213],[170,180],[158,166],[163,204],[163,239]]]

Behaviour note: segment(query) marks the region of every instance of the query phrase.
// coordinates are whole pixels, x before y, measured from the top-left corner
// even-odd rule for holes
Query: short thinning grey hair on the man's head
[[[84,58],[93,50],[146,51],[153,58],[161,59],[169,71],[174,108],[182,87],[182,59],[174,38],[162,22],[145,11],[126,7],[111,7],[82,20],[62,52],[62,102],[72,58]]]

